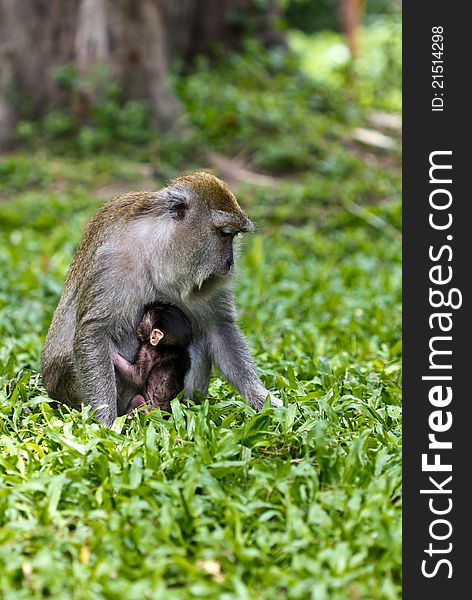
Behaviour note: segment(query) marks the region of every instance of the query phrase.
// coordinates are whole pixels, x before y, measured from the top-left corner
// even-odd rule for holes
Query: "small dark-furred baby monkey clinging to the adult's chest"
[[[121,354],[113,356],[117,371],[139,390],[127,412],[140,406],[170,411],[170,401],[183,390],[190,368],[190,321],[176,306],[151,304],[144,309],[137,334],[142,344],[133,363]]]

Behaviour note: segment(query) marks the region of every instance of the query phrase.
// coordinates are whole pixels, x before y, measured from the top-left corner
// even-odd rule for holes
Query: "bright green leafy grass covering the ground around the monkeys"
[[[86,218],[208,165],[195,138],[1,157],[2,600],[401,597],[399,155],[349,142],[373,95],[294,81],[277,53],[225,60],[177,89],[198,143],[275,177],[235,186],[258,224],[236,296],[284,407],[256,414],[215,374],[202,404],[112,431],[53,409],[39,356]]]

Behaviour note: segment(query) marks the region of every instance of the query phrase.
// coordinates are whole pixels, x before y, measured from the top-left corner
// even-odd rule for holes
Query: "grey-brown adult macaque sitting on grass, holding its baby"
[[[235,323],[230,277],[234,237],[253,229],[229,188],[204,172],[105,204],[84,231],[46,337],[49,395],[77,408],[92,405],[110,427],[136,392],[115,373],[113,356],[133,359],[144,307],[160,302],[191,321],[187,395],[207,392],[214,362],[259,410],[269,392]]]

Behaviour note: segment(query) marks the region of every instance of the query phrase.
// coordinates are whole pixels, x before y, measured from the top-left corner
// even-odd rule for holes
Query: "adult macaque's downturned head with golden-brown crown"
[[[163,193],[175,225],[173,254],[191,291],[225,281],[234,263],[234,238],[254,230],[231,190],[214,175],[197,172],[174,179]]]

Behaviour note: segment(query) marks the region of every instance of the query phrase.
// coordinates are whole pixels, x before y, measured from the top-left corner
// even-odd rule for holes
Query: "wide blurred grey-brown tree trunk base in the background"
[[[0,0],[0,147],[21,114],[61,104],[54,70],[65,64],[84,74],[108,65],[126,98],[149,100],[157,126],[170,129],[182,109],[169,59],[237,48],[250,30],[266,45],[283,43],[277,15],[273,0],[262,9],[252,0]]]

